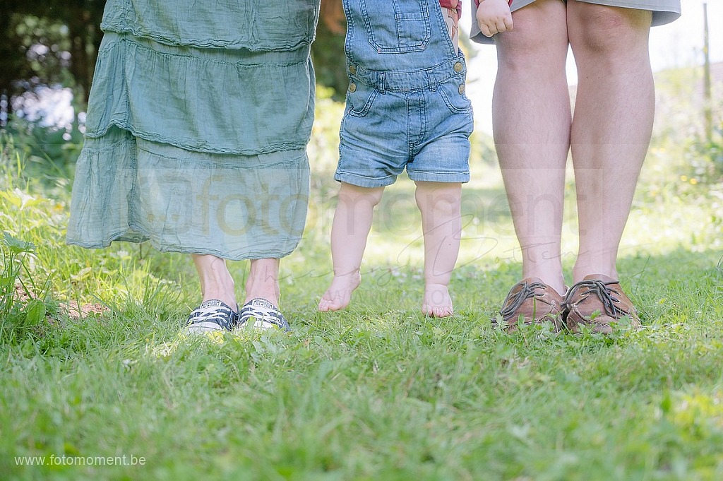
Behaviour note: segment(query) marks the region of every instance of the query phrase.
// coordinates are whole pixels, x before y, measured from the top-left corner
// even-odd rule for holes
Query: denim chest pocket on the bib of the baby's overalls
[[[360,1],[369,43],[377,52],[403,54],[427,47],[432,35],[427,0]]]

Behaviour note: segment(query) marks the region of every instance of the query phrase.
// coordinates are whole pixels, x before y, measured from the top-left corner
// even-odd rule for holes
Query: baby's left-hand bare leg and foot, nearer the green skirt
[[[351,293],[361,283],[361,258],[372,229],[375,206],[382,200],[384,187],[372,189],[341,183],[331,226],[331,257],[334,279],[319,302],[322,312],[340,310],[351,301]]]

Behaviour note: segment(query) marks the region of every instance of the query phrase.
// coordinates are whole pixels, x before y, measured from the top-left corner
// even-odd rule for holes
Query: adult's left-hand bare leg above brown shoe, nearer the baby
[[[565,77],[565,4],[537,0],[513,14],[514,30],[498,35],[492,98],[500,157],[523,277],[565,292],[560,259],[570,98]]]

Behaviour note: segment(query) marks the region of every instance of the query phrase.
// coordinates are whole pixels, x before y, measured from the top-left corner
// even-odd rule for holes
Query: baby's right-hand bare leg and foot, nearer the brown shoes
[[[422,312],[435,318],[454,314],[448,286],[459,255],[461,191],[462,184],[416,182],[424,232]]]

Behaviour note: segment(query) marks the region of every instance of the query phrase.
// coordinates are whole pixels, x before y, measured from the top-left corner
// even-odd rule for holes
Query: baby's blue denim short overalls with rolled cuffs
[[[349,88],[334,178],[360,187],[469,181],[466,64],[439,0],[343,0]]]

